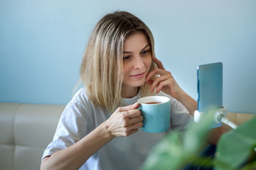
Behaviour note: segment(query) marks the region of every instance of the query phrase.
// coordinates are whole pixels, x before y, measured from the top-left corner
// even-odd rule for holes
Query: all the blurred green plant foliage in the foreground
[[[207,166],[218,170],[256,169],[256,117],[221,136],[215,159],[199,157],[198,153],[207,146],[212,117],[212,114],[205,114],[184,134],[170,132],[152,149],[141,169],[182,169],[188,164],[202,166],[206,162]]]

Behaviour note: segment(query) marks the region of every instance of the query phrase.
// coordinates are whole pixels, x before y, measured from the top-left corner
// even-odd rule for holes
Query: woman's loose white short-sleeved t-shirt
[[[159,92],[157,96],[170,98],[171,124],[170,130],[184,130],[192,120],[188,110],[173,97]],[[123,106],[134,104],[141,98],[137,96],[122,99]],[[67,104],[54,134],[52,142],[45,149],[42,159],[58,150],[73,145],[93,129],[105,122],[111,113],[108,110],[95,106],[86,96],[86,90],[80,89]],[[127,137],[116,137],[109,141],[90,157],[80,169],[97,170],[125,170],[139,169],[150,150],[164,137],[166,132],[148,133],[141,129]]]

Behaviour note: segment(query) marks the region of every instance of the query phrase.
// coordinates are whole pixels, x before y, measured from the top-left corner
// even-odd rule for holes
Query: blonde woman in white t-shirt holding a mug
[[[136,101],[143,96],[170,97],[170,130],[186,129],[196,101],[154,56],[154,38],[139,18],[125,11],[105,15],[81,63],[84,88],[63,111],[41,169],[141,167],[165,134],[141,131],[143,117]]]

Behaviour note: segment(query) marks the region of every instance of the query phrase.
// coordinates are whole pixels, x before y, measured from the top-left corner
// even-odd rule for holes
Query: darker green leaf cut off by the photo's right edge
[[[256,117],[221,136],[217,145],[216,168],[238,169],[256,146]]]

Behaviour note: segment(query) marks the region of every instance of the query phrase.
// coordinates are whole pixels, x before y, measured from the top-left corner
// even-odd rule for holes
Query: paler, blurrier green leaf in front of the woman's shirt
[[[172,131],[150,152],[142,169],[181,169],[193,161],[205,146],[205,136],[211,127],[213,115],[206,114],[198,124],[193,123],[182,136]]]

